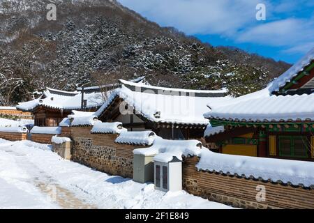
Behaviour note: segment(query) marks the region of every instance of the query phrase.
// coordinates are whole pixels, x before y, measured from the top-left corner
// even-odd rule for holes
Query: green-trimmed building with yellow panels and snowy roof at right
[[[314,161],[314,49],[266,89],[208,105],[220,153]]]

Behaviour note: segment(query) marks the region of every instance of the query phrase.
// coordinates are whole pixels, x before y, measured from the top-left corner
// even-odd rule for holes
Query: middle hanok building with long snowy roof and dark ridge
[[[200,139],[209,121],[208,103],[229,100],[226,91],[169,89],[120,80],[121,86],[96,112],[103,122],[121,122],[129,131],[153,130],[164,139]]]

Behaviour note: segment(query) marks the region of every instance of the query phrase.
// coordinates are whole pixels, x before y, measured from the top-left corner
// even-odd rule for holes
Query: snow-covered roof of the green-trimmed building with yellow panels
[[[269,83],[267,88],[233,98],[225,105],[212,105],[204,117],[227,121],[313,121],[314,93],[304,95],[273,95],[314,59],[314,48],[292,68]]]

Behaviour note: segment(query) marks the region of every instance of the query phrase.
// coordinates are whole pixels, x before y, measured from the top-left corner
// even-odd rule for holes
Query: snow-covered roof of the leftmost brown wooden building
[[[101,93],[84,93],[84,100],[87,100],[87,108],[100,107],[103,104],[103,95]],[[40,98],[29,102],[21,102],[17,105],[17,109],[32,111],[38,106],[43,106],[52,109],[73,110],[81,109],[81,101],[82,94],[80,92],[47,88]]]

